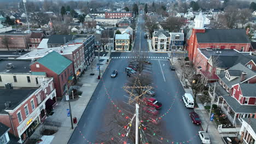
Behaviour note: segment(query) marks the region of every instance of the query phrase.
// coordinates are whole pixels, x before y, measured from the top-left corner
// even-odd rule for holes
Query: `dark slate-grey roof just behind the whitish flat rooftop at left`
[[[64,38],[66,38],[66,42],[64,41]],[[60,35],[60,34],[50,35],[47,44],[65,44],[72,39],[73,39],[73,35]]]

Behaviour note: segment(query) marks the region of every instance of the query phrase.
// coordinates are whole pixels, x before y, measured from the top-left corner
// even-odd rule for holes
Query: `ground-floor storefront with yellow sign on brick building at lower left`
[[[22,143],[24,143],[28,137],[30,137],[34,131],[36,130],[36,128],[38,127],[39,125],[39,117],[37,117],[33,122],[32,122],[32,119],[31,121],[28,121],[27,124],[30,124],[30,127],[28,127],[23,134],[21,134],[21,141]]]

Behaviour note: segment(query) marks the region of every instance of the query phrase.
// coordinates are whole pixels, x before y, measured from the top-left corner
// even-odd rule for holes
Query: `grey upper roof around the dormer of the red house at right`
[[[229,70],[240,70],[241,72],[245,72],[247,73],[246,75],[246,79],[256,76],[255,71],[252,71],[251,69],[248,69],[245,65],[238,63],[236,65],[234,65],[233,67],[229,68]],[[221,79],[229,88],[231,88],[233,85],[237,84],[237,83],[241,83],[241,79],[240,77],[236,77],[235,79],[229,81],[228,79],[226,79],[225,77],[226,71],[223,71],[222,73],[220,73],[218,75],[219,79]]]

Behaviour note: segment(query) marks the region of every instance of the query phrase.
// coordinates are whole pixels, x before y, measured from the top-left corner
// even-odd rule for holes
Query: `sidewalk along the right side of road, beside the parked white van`
[[[170,57],[170,53],[168,53],[168,56]],[[173,57],[172,59],[173,61],[171,62],[172,65],[174,65],[175,70],[176,70],[176,74],[179,77],[179,81],[181,82],[182,86],[184,86],[184,80],[181,81],[182,79],[182,70],[179,67],[179,63],[178,63],[178,58],[177,57]],[[171,59],[170,59],[171,61]],[[193,94],[193,90],[189,87],[189,88],[184,88],[185,93],[191,93]],[[194,108],[194,111],[199,115],[201,121],[202,121],[202,128],[203,130],[206,131],[207,128],[207,122],[209,122],[208,118],[208,112],[205,110],[205,107],[201,104],[200,100],[196,99],[197,101],[197,105],[198,108]],[[217,130],[217,125],[214,122],[210,122],[210,124],[208,125],[208,134],[210,135],[210,139],[211,139],[211,143],[212,144],[224,144],[223,140],[222,140],[222,135],[219,134],[219,131]]]

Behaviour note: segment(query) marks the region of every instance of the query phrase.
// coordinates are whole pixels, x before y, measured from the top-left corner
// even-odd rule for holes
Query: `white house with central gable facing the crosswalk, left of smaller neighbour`
[[[165,29],[155,29],[152,34],[152,46],[155,51],[169,51],[170,49],[170,34]]]

